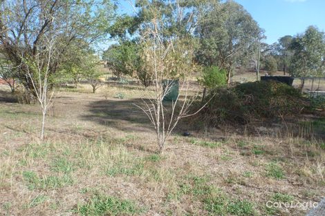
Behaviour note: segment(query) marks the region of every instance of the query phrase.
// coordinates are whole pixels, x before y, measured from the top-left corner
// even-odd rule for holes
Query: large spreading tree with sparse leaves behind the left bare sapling
[[[91,44],[104,39],[114,16],[109,0],[4,0],[0,2],[2,52],[17,68],[17,79],[27,95],[36,97],[23,59],[39,57],[48,49],[45,38],[53,38],[55,52],[48,67],[53,75],[75,41]]]

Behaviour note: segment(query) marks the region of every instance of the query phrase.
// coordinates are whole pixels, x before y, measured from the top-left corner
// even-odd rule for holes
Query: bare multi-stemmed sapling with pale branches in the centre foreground
[[[157,144],[160,152],[163,151],[168,137],[176,128],[180,119],[198,113],[204,106],[193,113],[190,107],[196,99],[198,92],[190,89],[190,75],[198,70],[194,63],[194,47],[188,38],[165,37],[162,29],[164,23],[161,19],[151,19],[148,28],[142,32],[142,59],[146,70],[154,75],[153,87],[146,91],[147,97],[142,98],[143,106],[138,106],[156,130]],[[180,80],[180,94],[168,103],[164,101],[167,94]]]

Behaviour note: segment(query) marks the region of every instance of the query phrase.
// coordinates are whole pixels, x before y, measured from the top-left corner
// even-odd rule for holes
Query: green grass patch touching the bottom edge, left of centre
[[[137,215],[142,209],[127,199],[94,195],[86,204],[78,204],[76,212],[80,215]]]

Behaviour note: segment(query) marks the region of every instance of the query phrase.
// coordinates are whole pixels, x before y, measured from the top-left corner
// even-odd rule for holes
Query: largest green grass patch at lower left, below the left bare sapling
[[[71,175],[62,175],[62,176],[41,176],[39,177],[33,171],[24,171],[23,172],[24,181],[28,186],[28,189],[55,189],[62,188],[64,186],[72,185],[73,179]]]

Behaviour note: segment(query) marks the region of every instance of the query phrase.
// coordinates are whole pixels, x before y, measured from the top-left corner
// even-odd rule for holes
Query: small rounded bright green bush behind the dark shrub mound
[[[205,67],[203,69],[203,79],[201,84],[206,88],[216,88],[227,84],[226,71],[217,66]]]

